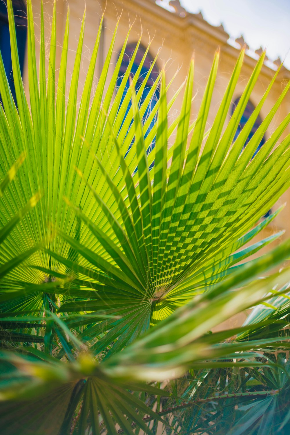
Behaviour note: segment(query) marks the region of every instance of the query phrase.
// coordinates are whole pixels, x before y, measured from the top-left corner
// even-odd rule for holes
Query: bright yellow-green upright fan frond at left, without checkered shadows
[[[4,170],[5,167],[12,166],[17,158],[25,152],[26,160],[23,162],[20,185],[15,189],[15,201],[11,205],[11,216],[13,216],[13,212],[15,213],[18,210],[18,204],[24,206],[29,201],[29,198],[37,192],[41,195],[41,201],[29,218],[23,218],[23,226],[18,232],[16,230],[17,234],[14,233],[13,238],[7,240],[0,255],[2,259],[5,259],[16,254],[19,244],[17,245],[15,241],[18,238],[27,249],[32,248],[41,241],[47,248],[55,252],[60,251],[68,258],[76,258],[76,254],[72,252],[69,245],[62,238],[55,236],[52,223],[57,228],[62,228],[67,234],[71,234],[74,237],[80,231],[79,220],[68,210],[63,197],[69,198],[73,204],[78,204],[90,217],[99,214],[98,204],[92,203],[91,198],[82,187],[79,177],[75,172],[75,167],[79,167],[95,188],[102,182],[101,174],[97,171],[95,162],[92,158],[89,158],[88,144],[97,153],[104,165],[110,165],[108,169],[109,174],[114,177],[114,174],[117,173],[116,176],[118,176],[118,164],[115,161],[116,151],[113,149],[112,141],[110,141],[111,127],[109,127],[109,122],[106,120],[104,111],[108,113],[108,120],[118,135],[119,141],[122,143],[122,149],[125,152],[132,142],[134,133],[129,128],[132,122],[132,109],[129,110],[124,119],[128,102],[130,101],[130,94],[127,93],[125,97],[123,94],[140,40],[137,43],[128,70],[122,79],[118,91],[115,93],[115,83],[129,37],[128,34],[123,44],[119,61],[109,81],[107,80],[107,75],[112,56],[114,55],[117,25],[105,59],[102,74],[99,77],[96,90],[92,96],[92,88],[95,86],[94,72],[102,30],[101,20],[99,31],[96,35],[96,43],[92,50],[79,110],[76,110],[78,105],[77,90],[82,58],[85,15],[82,20],[79,45],[69,87],[69,98],[66,104],[69,11],[63,40],[59,77],[56,84],[56,7],[54,7],[52,18],[48,71],[46,71],[46,40],[43,12],[41,13],[40,64],[38,69],[36,66],[32,5],[31,1],[28,1],[27,55],[30,95],[30,102],[28,102],[20,74],[13,9],[10,0],[7,2],[7,6],[17,107],[14,104],[8,85],[2,57],[0,57],[0,94],[3,101],[3,105],[0,107],[1,162],[3,162],[1,163],[1,168]],[[136,78],[138,78],[138,74],[142,70],[142,64],[145,61],[148,50],[149,47],[135,74]],[[140,112],[143,114],[158,87],[159,78],[140,107]],[[145,84],[146,80],[144,80],[144,84],[138,92],[138,101],[142,97]],[[106,86],[107,88],[104,92]],[[177,95],[173,97],[168,107],[172,106],[176,97]],[[145,121],[147,127],[151,124],[152,119],[155,118],[156,111],[157,107],[148,115],[148,119]],[[151,144],[154,136],[153,129],[148,138],[146,138],[146,143]],[[11,144],[13,145],[11,146]],[[129,165],[131,171],[137,165],[136,158],[132,154],[132,152],[128,154],[128,159],[132,161]],[[1,210],[1,219],[4,223],[9,219],[9,215],[4,210]],[[82,238],[88,238],[86,228],[82,228]],[[95,243],[92,238],[91,242],[92,244]],[[10,281],[5,282],[3,287],[17,287],[16,282],[19,282],[20,277],[23,284],[32,283],[41,285],[46,281],[52,281],[52,276],[47,271],[58,271],[60,275],[62,272],[67,271],[66,267],[60,266],[59,262],[55,262],[50,255],[41,250],[33,254],[30,258],[30,264],[36,265],[37,268],[31,269],[25,267],[13,271],[10,275]],[[13,280],[13,283],[11,283],[11,280]],[[43,298],[41,294],[39,297],[36,297],[34,294],[30,309],[34,308],[35,311],[38,311],[42,305]]]

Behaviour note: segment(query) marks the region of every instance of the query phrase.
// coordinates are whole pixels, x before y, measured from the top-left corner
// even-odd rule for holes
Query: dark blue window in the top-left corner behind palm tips
[[[26,4],[24,0],[12,0],[13,13],[16,24],[16,39],[18,46],[18,56],[20,63],[21,74],[23,73],[23,65],[25,58],[26,48],[26,35],[27,35],[27,13]],[[12,61],[10,50],[10,35],[7,16],[7,1],[0,1],[0,51],[3,59],[5,72],[8,78],[10,89],[16,101],[14,81],[12,75]]]

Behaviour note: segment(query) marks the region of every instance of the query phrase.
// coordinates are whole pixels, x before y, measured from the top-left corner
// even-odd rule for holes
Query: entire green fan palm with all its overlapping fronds
[[[13,232],[5,234],[1,245],[0,267],[7,268],[5,276],[0,276],[3,433],[152,434],[160,422],[167,433],[183,434],[185,423],[180,425],[180,418],[176,423],[173,412],[163,418],[168,412],[162,410],[162,403],[168,400],[184,410],[192,408],[196,405],[191,395],[195,387],[182,398],[184,391],[180,394],[176,388],[160,388],[160,382],[181,376],[185,370],[205,367],[207,373],[214,370],[216,385],[220,385],[221,368],[262,370],[265,362],[254,359],[260,348],[287,349],[285,324],[280,323],[279,313],[243,328],[215,334],[208,331],[267,301],[272,293],[265,293],[274,284],[280,284],[283,292],[289,281],[287,268],[257,280],[258,274],[289,256],[289,242],[245,263],[281,232],[244,245],[279,213],[280,209],[259,222],[289,186],[289,136],[276,145],[290,115],[253,155],[290,84],[243,150],[279,72],[233,143],[265,54],[227,123],[244,59],[241,52],[214,122],[206,131],[219,52],[198,116],[192,121],[193,61],[185,84],[171,101],[166,97],[171,82],[166,86],[163,70],[141,103],[146,79],[137,94],[134,82],[147,50],[123,98],[140,40],[115,92],[129,37],[109,79],[117,27],[92,93],[101,22],[77,110],[85,15],[66,103],[69,11],[56,83],[56,6],[46,77],[43,10],[38,69],[28,0],[28,102],[11,0],[7,6],[17,107],[0,57],[1,171],[15,164],[23,152],[26,159],[18,172],[20,183],[13,189],[10,209],[1,208],[1,223],[9,225],[13,214],[33,195],[39,194],[40,200],[33,203],[29,214],[21,214],[21,221]],[[157,87],[160,99],[142,121]],[[168,110],[183,88],[180,114],[168,126]],[[126,115],[130,100],[132,107]],[[175,141],[168,149],[171,136]],[[152,142],[155,147],[147,154]],[[9,193],[12,197],[12,191]],[[13,258],[21,261],[13,262]],[[244,264],[238,265],[241,261]],[[284,308],[287,314],[287,306]],[[270,332],[265,336],[268,325]],[[273,361],[268,360],[272,367]],[[226,388],[224,384],[216,391]],[[235,394],[237,400],[244,401],[246,396],[240,389]],[[268,390],[259,391],[254,402],[267,398]],[[277,388],[270,390],[278,394]],[[214,402],[208,394],[197,400],[204,400],[205,408]],[[208,414],[208,408],[204,412]],[[221,422],[224,415],[219,415]],[[191,433],[192,425],[186,424]],[[201,427],[195,429],[201,431]]]

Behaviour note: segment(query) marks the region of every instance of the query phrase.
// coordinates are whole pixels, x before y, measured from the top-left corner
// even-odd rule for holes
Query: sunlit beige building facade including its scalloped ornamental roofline
[[[40,0],[32,0],[33,12],[35,18],[35,31],[36,39],[40,38]],[[95,79],[96,83],[101,74],[102,67],[104,65],[106,54],[109,51],[114,30],[117,21],[119,21],[118,31],[115,37],[114,51],[112,54],[107,84],[113,75],[115,64],[119,58],[119,52],[128,34],[129,27],[131,31],[128,38],[129,47],[135,47],[139,37],[141,36],[141,46],[145,50],[145,47],[149,49],[149,60],[154,59],[157,56],[155,64],[155,73],[158,73],[163,67],[165,68],[167,83],[176,76],[173,83],[168,90],[168,100],[173,97],[174,93],[181,86],[186,78],[188,72],[188,66],[191,58],[194,56],[194,100],[192,102],[192,120],[196,117],[198,109],[201,103],[201,98],[204,92],[208,75],[210,73],[211,64],[214,58],[214,53],[217,47],[220,47],[221,57],[219,63],[219,69],[217,74],[217,80],[215,84],[215,90],[211,102],[211,110],[208,117],[208,126],[214,120],[215,114],[221,102],[222,96],[226,89],[228,80],[231,76],[231,72],[234,69],[234,64],[237,60],[241,47],[245,45],[243,37],[237,40],[231,40],[230,35],[224,30],[222,25],[218,27],[211,26],[207,23],[201,13],[191,14],[184,10],[178,0],[171,0],[169,2],[171,10],[166,10],[162,5],[165,4],[165,0],[56,0],[57,5],[57,47],[56,47],[56,65],[60,64],[61,45],[65,32],[66,25],[66,13],[69,6],[70,15],[70,29],[69,29],[69,52],[67,60],[68,74],[66,77],[67,86],[69,87],[70,74],[73,70],[75,54],[77,44],[79,40],[79,31],[81,27],[81,20],[84,9],[86,8],[86,27],[84,35],[84,49],[82,54],[82,64],[79,74],[79,101],[82,93],[82,86],[86,79],[86,71],[89,65],[90,55],[94,47],[97,31],[103,14],[103,29],[102,37],[99,44],[99,54],[96,63]],[[24,0],[13,0],[14,12],[15,10],[23,9],[23,23],[25,21],[25,2]],[[1,8],[4,8],[2,4]],[[3,13],[5,10],[0,10],[0,20],[4,23],[5,17]],[[47,28],[47,58],[49,53],[49,27],[53,12],[53,0],[44,1],[45,12],[45,27]],[[21,14],[17,19],[20,20],[21,28]],[[4,23],[5,24],[5,23]],[[4,27],[1,24],[1,32],[4,35]],[[3,36],[2,35],[2,36]],[[23,33],[19,38],[23,42]],[[2,41],[2,42],[1,42]],[[4,36],[1,39],[1,52],[6,49],[3,41]],[[25,53],[25,44],[22,43],[22,58],[24,59],[23,65],[23,80],[28,94],[28,77],[27,77],[27,55]],[[241,77],[236,87],[233,102],[241,96],[247,80],[253,71],[254,65],[257,62],[259,54],[262,52],[261,48],[248,47],[246,45],[246,56],[244,65],[241,71]],[[127,57],[130,56],[128,52]],[[277,66],[279,66],[280,60],[272,61],[266,60],[257,84],[250,97],[250,103],[248,112],[250,113],[254,107],[257,106],[261,97],[263,96],[270,80],[274,76]],[[150,65],[150,63],[149,63]],[[9,69],[9,68],[8,68]],[[7,74],[8,75],[8,74]],[[282,67],[274,86],[272,87],[267,100],[265,101],[261,111],[259,122],[263,120],[269,113],[277,98],[281,94],[285,84],[290,79],[290,71]],[[158,97],[158,95],[156,96]],[[178,114],[181,107],[182,92],[176,99],[169,114],[169,121],[173,120]],[[233,106],[232,106],[233,107]],[[232,109],[231,109],[232,110]],[[231,110],[227,114],[228,120],[231,117]],[[246,111],[245,111],[246,112]],[[280,106],[277,114],[275,114],[273,121],[269,128],[265,132],[263,141],[267,140],[273,133],[274,129],[280,124],[280,122],[290,112],[290,99],[286,97]],[[248,114],[244,114],[244,120],[247,120]],[[242,120],[241,120],[242,124]],[[257,127],[257,126],[256,126]],[[281,140],[285,135],[289,134],[290,127],[287,127]],[[172,139],[171,139],[172,143]],[[169,144],[170,146],[170,144]],[[287,191],[279,200],[279,204],[287,202],[286,207],[278,215],[270,227],[266,231],[275,231],[277,229],[285,229],[285,237],[290,236],[290,192]],[[276,207],[274,206],[274,208]]]

